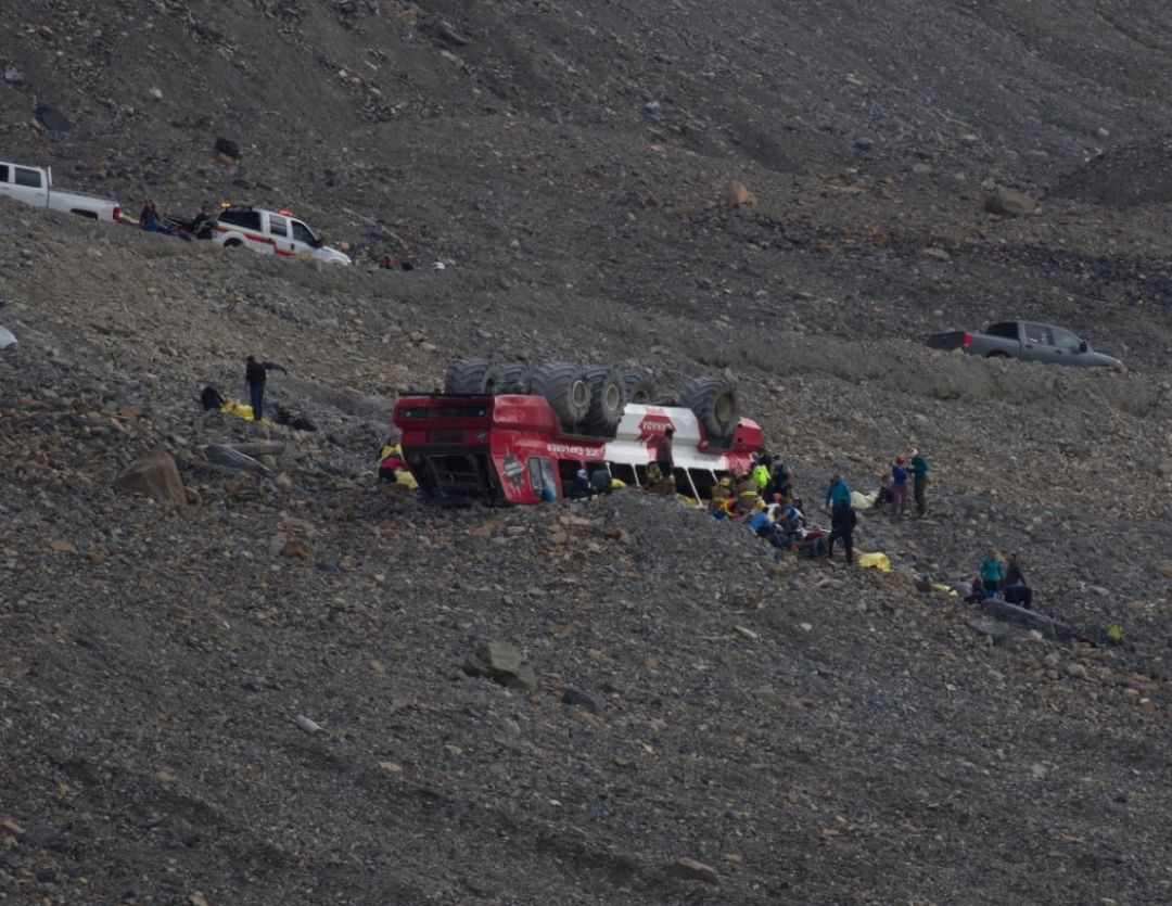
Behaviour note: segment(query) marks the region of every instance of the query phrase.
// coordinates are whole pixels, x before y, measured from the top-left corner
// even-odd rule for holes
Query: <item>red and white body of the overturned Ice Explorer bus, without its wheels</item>
[[[676,491],[704,500],[721,477],[752,468],[762,440],[756,422],[738,418],[716,449],[691,409],[641,403],[626,404],[613,440],[568,434],[537,395],[408,396],[393,418],[424,493],[498,504],[540,503],[546,489],[560,499],[579,469],[599,463],[612,478],[642,484],[667,428],[675,429]]]

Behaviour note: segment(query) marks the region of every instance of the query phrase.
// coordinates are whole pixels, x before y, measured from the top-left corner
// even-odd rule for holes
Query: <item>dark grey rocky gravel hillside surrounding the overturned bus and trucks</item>
[[[355,264],[0,199],[0,901],[1167,901],[1166,4],[9,6],[0,159]],[[1016,316],[1126,368],[922,343]],[[318,432],[202,410],[250,353]],[[468,355],[727,373],[808,500],[915,444],[928,518],[860,516],[880,573],[380,486]],[[1125,643],[975,632],[989,547]]]

